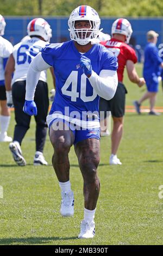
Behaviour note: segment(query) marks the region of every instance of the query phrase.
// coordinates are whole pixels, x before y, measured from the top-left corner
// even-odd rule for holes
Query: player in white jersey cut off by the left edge
[[[12,138],[7,135],[7,130],[10,123],[10,109],[7,106],[7,96],[4,84],[4,69],[7,60],[12,53],[13,46],[8,40],[2,37],[2,35],[4,35],[5,25],[6,23],[4,17],[0,15],[0,142],[11,142]]]

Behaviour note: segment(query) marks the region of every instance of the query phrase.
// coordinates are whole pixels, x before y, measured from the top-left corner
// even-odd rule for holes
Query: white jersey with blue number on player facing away
[[[26,80],[29,64],[47,44],[47,42],[33,37],[30,40],[20,42],[14,46],[14,51],[12,54],[15,59],[15,71],[11,84],[17,81]],[[39,80],[43,82],[47,81],[46,70],[41,71]]]

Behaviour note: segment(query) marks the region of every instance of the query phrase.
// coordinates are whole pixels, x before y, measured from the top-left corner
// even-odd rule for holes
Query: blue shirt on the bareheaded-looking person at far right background
[[[161,68],[160,64],[162,59],[159,57],[158,48],[152,42],[149,42],[145,47],[145,63],[143,66],[143,76],[152,78],[160,76]]]

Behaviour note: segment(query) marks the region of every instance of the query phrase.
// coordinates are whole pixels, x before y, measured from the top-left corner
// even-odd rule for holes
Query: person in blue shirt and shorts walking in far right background
[[[138,114],[141,113],[140,106],[143,101],[149,99],[150,103],[150,115],[160,115],[154,111],[156,94],[159,87],[159,76],[161,74],[161,68],[163,68],[163,60],[159,56],[156,42],[159,34],[155,31],[148,31],[147,41],[148,44],[145,47],[145,62],[143,66],[143,76],[146,80],[147,92],[141,97],[139,101],[134,101],[134,106]]]

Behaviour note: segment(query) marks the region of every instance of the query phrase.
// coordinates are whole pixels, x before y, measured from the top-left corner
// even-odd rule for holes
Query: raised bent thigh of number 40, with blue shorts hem
[[[60,129],[56,129],[56,122],[60,122]],[[70,150],[74,142],[74,134],[64,120],[54,120],[49,127],[49,138],[55,151]]]

